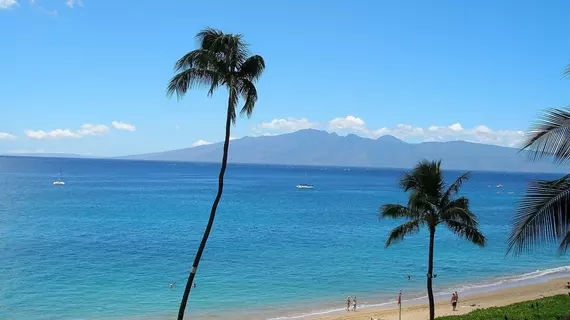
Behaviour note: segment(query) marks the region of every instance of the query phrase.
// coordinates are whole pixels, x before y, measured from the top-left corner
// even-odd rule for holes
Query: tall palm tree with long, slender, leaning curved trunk
[[[212,96],[219,87],[228,90],[228,109],[226,113],[226,136],[222,156],[222,167],[218,177],[218,193],[212,204],[210,218],[204,230],[204,235],[196,256],[188,282],[184,289],[178,320],[184,318],[184,311],[194,276],[200,263],[200,258],[206,247],[208,236],[214,224],[216,209],[224,189],[224,174],[228,163],[228,148],[230,144],[231,125],[236,122],[236,107],[240,97],[244,104],[241,115],[250,117],[257,101],[257,90],[254,83],[259,79],[265,69],[263,58],[258,55],[249,56],[248,45],[241,34],[226,34],[220,30],[207,28],[196,35],[199,48],[190,51],[178,60],[174,66],[177,74],[170,80],[167,94],[172,97],[176,93],[178,99],[184,97],[189,89],[207,86],[208,96]]]

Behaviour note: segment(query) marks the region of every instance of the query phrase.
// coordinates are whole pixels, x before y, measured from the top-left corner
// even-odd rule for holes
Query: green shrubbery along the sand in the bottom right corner
[[[570,296],[559,295],[521,302],[505,307],[473,310],[461,316],[438,320],[570,320]]]

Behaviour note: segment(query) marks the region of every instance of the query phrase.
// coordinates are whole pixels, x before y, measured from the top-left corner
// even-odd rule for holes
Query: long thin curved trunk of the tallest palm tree
[[[196,252],[196,257],[194,258],[194,264],[192,264],[192,270],[190,271],[190,276],[188,276],[188,282],[186,282],[186,288],[184,289],[184,295],[182,296],[182,302],[180,302],[180,310],[178,310],[178,320],[184,319],[184,311],[186,309],[186,303],[188,302],[188,296],[190,295],[190,289],[192,288],[192,283],[194,283],[194,276],[196,275],[196,270],[198,269],[198,264],[200,263],[200,258],[206,247],[206,242],[210,236],[210,231],[212,230],[212,225],[214,224],[214,218],[216,217],[216,210],[218,209],[218,204],[222,198],[222,191],[224,189],[224,174],[226,173],[226,166],[228,164],[228,149],[230,145],[230,129],[231,129],[231,101],[232,101],[232,91],[230,90],[230,98],[228,101],[228,114],[226,119],[226,137],[224,140],[224,155],[222,156],[222,168],[220,169],[220,175],[218,177],[218,193],[212,204],[212,210],[210,211],[210,219],[208,219],[208,224],[206,225],[206,230],[204,230],[204,235],[202,236],[202,242],[200,242],[200,247],[198,252]]]

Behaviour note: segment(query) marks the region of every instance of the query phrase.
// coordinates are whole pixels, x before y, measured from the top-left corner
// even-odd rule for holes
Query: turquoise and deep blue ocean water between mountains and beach
[[[60,168],[66,185],[53,186]],[[0,318],[173,318],[218,168],[0,157]],[[305,317],[342,308],[347,295],[364,305],[394,300],[399,290],[423,295],[426,234],[386,249],[396,222],[377,218],[381,204],[405,201],[400,174],[230,165],[188,314]],[[505,257],[518,195],[530,179],[553,177],[475,172],[463,190],[489,244],[480,249],[439,230],[436,290],[563,272],[552,268],[570,259],[553,249]],[[301,182],[315,189],[296,190]],[[499,183],[515,195],[497,194]]]

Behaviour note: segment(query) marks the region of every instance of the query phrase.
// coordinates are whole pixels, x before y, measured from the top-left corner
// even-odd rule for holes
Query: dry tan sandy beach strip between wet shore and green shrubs
[[[460,315],[475,309],[505,306],[517,302],[534,300],[541,297],[567,294],[566,283],[570,278],[558,278],[548,282],[528,284],[514,288],[501,289],[488,293],[461,296],[457,311],[453,311],[449,301],[436,302],[436,317]],[[370,317],[382,320],[398,320],[398,308],[361,309],[356,312],[314,317],[319,320],[369,320]],[[429,308],[426,304],[402,306],[402,320],[429,319]]]

